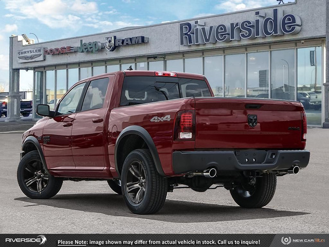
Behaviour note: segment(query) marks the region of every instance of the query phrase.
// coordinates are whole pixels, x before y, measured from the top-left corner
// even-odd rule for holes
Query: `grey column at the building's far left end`
[[[20,70],[12,68],[13,38],[9,38],[9,94],[6,121],[21,121]]]

